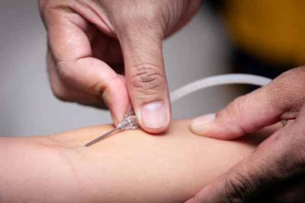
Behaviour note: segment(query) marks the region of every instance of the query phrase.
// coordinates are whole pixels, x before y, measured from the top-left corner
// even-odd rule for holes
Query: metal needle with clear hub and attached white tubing
[[[271,82],[272,80],[262,76],[250,75],[250,74],[225,74],[225,75],[218,75],[218,76],[211,76],[207,78],[203,78],[182,86],[177,90],[170,93],[170,101],[173,103],[174,101],[190,94],[195,91],[212,87],[218,85],[228,85],[228,84],[248,84],[248,85],[257,85],[257,86],[264,86]],[[106,132],[99,138],[85,144],[85,147],[89,147],[90,145],[95,144],[96,142],[102,140],[112,132],[116,130],[122,129],[136,129],[139,126],[137,117],[134,111],[126,114],[123,118],[123,121],[120,122],[115,128]]]

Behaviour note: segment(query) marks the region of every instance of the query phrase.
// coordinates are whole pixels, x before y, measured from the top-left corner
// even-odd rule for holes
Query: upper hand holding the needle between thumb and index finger
[[[40,0],[53,93],[108,106],[115,124],[133,107],[144,130],[166,130],[171,107],[162,41],[192,18],[200,2]]]

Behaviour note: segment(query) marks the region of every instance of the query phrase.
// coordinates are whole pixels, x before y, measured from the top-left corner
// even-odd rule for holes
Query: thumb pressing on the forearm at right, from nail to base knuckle
[[[199,135],[218,139],[236,139],[276,123],[285,112],[274,83],[234,99],[216,114],[195,118],[191,130]],[[284,93],[285,94],[285,93]]]

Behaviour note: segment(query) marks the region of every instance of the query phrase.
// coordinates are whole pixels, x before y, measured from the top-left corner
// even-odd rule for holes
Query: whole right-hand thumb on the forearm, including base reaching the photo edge
[[[235,139],[280,121],[294,119],[302,105],[305,82],[302,68],[290,70],[266,86],[240,96],[217,114],[194,119],[197,134]]]

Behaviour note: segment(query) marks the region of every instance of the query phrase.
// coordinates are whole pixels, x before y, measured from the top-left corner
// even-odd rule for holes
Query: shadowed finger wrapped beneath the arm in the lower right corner
[[[304,118],[285,126],[277,139],[230,168],[187,203],[246,202],[269,188],[302,174],[305,108],[302,116]]]

